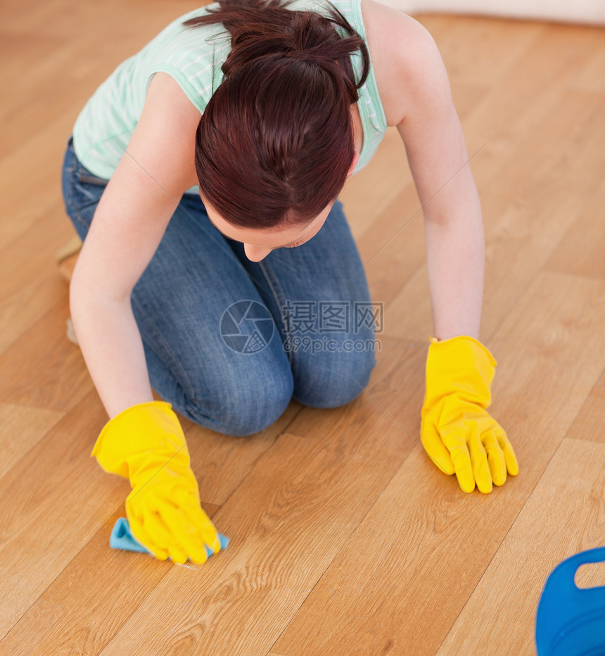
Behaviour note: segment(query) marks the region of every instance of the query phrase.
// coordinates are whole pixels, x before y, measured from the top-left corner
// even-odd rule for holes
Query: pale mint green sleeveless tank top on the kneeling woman
[[[367,42],[361,0],[331,1]],[[221,66],[231,49],[230,34],[222,24],[188,28],[183,23],[213,6],[174,20],[141,51],[123,61],[91,96],[75,122],[73,144],[77,158],[94,175],[109,179],[115,171],[141,115],[154,73],[162,71],[174,77],[203,113],[223,79]],[[326,13],[326,5],[319,0],[294,0],[288,8]],[[354,53],[351,61],[359,80],[362,58]],[[358,107],[364,138],[355,172],[367,165],[387,127],[371,65],[367,81],[359,89]],[[188,192],[197,194],[198,188],[191,187]]]

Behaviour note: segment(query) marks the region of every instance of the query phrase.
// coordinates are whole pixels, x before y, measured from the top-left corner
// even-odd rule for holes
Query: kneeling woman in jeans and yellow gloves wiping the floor
[[[374,329],[350,315],[369,291],[337,198],[388,125],[428,203],[422,442],[465,491],[518,472],[485,411],[496,363],[478,341],[483,222],[433,40],[372,0],[224,1],[113,72],[79,115],[63,171],[84,239],[72,320],[110,417],[93,455],[129,477],[132,532],[156,557],[219,549],[172,408],[246,435],[291,398],[335,407],[367,384]],[[297,320],[314,303],[350,321],[335,348],[310,353],[301,337],[321,316]]]

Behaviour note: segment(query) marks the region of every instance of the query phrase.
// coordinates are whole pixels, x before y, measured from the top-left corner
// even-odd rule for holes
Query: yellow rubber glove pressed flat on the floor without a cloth
[[[486,408],[497,365],[473,337],[431,338],[426,360],[426,393],[420,437],[426,453],[445,474],[456,474],[460,487],[480,492],[502,485],[507,471],[519,471],[504,429]]]

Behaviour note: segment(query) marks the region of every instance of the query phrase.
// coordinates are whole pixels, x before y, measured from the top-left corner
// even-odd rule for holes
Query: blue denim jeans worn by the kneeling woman
[[[63,198],[84,240],[106,181],[68,141]],[[136,247],[136,245],[134,246]],[[367,280],[340,202],[302,246],[250,262],[184,194],[132,291],[151,386],[196,424],[265,429],[291,398],[345,405],[376,364]]]

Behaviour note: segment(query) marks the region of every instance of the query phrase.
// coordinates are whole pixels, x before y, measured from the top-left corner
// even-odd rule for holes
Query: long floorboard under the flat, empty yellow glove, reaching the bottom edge
[[[540,324],[526,312],[537,298],[549,298],[552,308]],[[578,312],[588,306],[597,310],[590,322],[605,320],[605,285],[542,274],[495,339],[497,351],[506,351],[511,360],[497,376],[507,390],[499,398],[510,405],[497,402],[493,413],[502,417],[514,443],[519,476],[488,496],[466,496],[452,479],[433,471],[416,448],[276,642],[278,652],[430,655],[438,650],[605,365],[604,332],[595,334],[592,348],[573,334],[582,331]],[[561,378],[560,371],[569,374]],[[375,547],[368,549],[368,543]],[[515,622],[520,621],[521,615]],[[527,618],[524,626],[531,626]],[[492,631],[494,653],[507,644],[508,627],[499,625],[497,635]],[[483,653],[484,646],[460,653]]]

